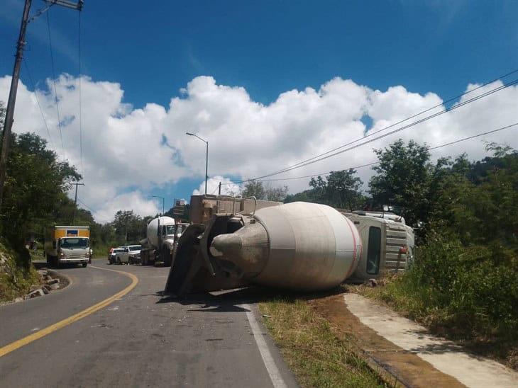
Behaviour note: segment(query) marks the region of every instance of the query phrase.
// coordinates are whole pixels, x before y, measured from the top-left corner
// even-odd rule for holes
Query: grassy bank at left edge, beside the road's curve
[[[0,256],[0,302],[27,294],[31,285],[40,285],[40,277],[27,251],[17,253],[6,241],[0,241]]]

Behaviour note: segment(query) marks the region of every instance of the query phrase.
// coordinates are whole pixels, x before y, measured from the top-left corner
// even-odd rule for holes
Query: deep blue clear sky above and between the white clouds
[[[0,9],[0,76],[12,71],[22,6],[6,0]],[[41,6],[34,0],[33,12]],[[134,108],[168,108],[202,75],[265,105],[334,77],[446,99],[518,67],[517,16],[518,1],[85,0],[82,72],[121,84]],[[57,74],[78,73],[77,21],[75,11],[50,11]],[[51,76],[46,28],[45,16],[29,25],[26,52],[41,88]],[[199,181],[151,191],[188,197]]]

